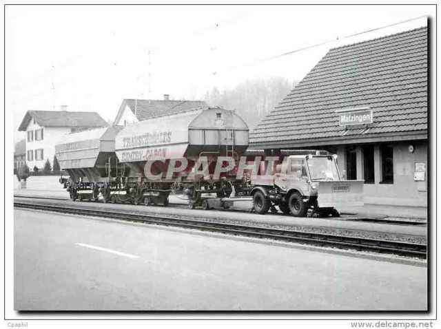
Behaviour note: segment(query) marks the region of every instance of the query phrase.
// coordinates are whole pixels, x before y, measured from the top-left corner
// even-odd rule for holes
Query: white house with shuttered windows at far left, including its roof
[[[65,134],[107,127],[96,112],[28,111],[19,131],[25,131],[25,159],[28,167],[43,169],[46,160],[53,165],[55,144]]]

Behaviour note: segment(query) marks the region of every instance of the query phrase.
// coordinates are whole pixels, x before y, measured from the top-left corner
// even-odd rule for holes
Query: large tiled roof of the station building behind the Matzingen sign
[[[250,134],[250,143],[338,138],[338,109],[370,107],[373,123],[348,136],[427,132],[427,28],[337,47]]]

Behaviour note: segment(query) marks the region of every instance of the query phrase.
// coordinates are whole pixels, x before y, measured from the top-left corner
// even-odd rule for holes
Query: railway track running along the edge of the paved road
[[[210,231],[229,235],[258,237],[260,239],[280,240],[311,244],[314,246],[327,246],[355,251],[370,251],[375,253],[401,255],[406,257],[427,257],[427,245],[391,240],[378,240],[366,237],[350,237],[346,235],[330,235],[305,231],[271,229],[243,224],[226,224],[220,222],[205,222],[203,220],[167,217],[165,215],[144,215],[123,213],[119,211],[103,211],[99,209],[83,209],[79,207],[54,206],[27,202],[14,202],[14,207],[21,209],[36,209],[56,213],[83,215],[93,217],[106,217],[127,222],[139,222],[161,226],[174,226],[198,231]]]

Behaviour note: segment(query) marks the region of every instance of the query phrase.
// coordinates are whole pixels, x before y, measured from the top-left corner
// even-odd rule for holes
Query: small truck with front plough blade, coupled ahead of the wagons
[[[338,216],[345,205],[362,205],[363,180],[345,180],[331,154],[291,155],[275,165],[271,176],[252,177],[253,206],[266,213],[278,206],[285,214]]]

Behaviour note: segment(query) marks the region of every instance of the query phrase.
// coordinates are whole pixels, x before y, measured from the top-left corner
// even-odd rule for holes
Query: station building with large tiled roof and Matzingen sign
[[[336,47],[250,134],[268,154],[325,149],[365,204],[427,206],[427,27]]]

